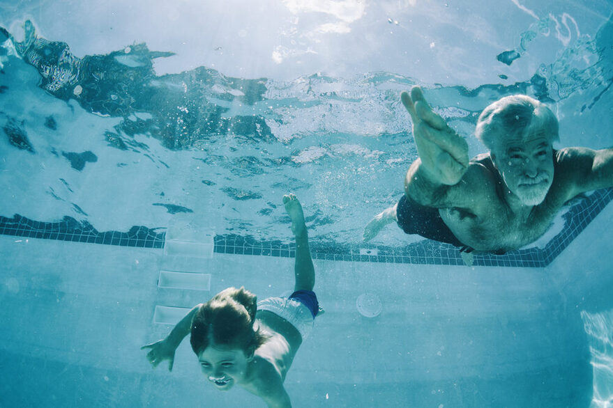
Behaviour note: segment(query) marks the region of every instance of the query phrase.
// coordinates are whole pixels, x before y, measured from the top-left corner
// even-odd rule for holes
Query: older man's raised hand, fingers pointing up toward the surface
[[[460,182],[469,164],[466,141],[432,111],[418,86],[411,89],[411,95],[403,91],[400,100],[413,120],[413,136],[423,171],[432,182],[444,185]]]

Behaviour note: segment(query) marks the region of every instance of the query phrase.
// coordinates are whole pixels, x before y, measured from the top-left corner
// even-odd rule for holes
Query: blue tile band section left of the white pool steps
[[[56,222],[40,222],[22,217],[20,214],[15,214],[13,218],[0,216],[2,235],[89,244],[163,248],[166,233],[157,232],[158,229],[133,226],[127,233],[118,231],[100,233],[89,222],[77,221],[73,217],[63,217],[61,221]]]

